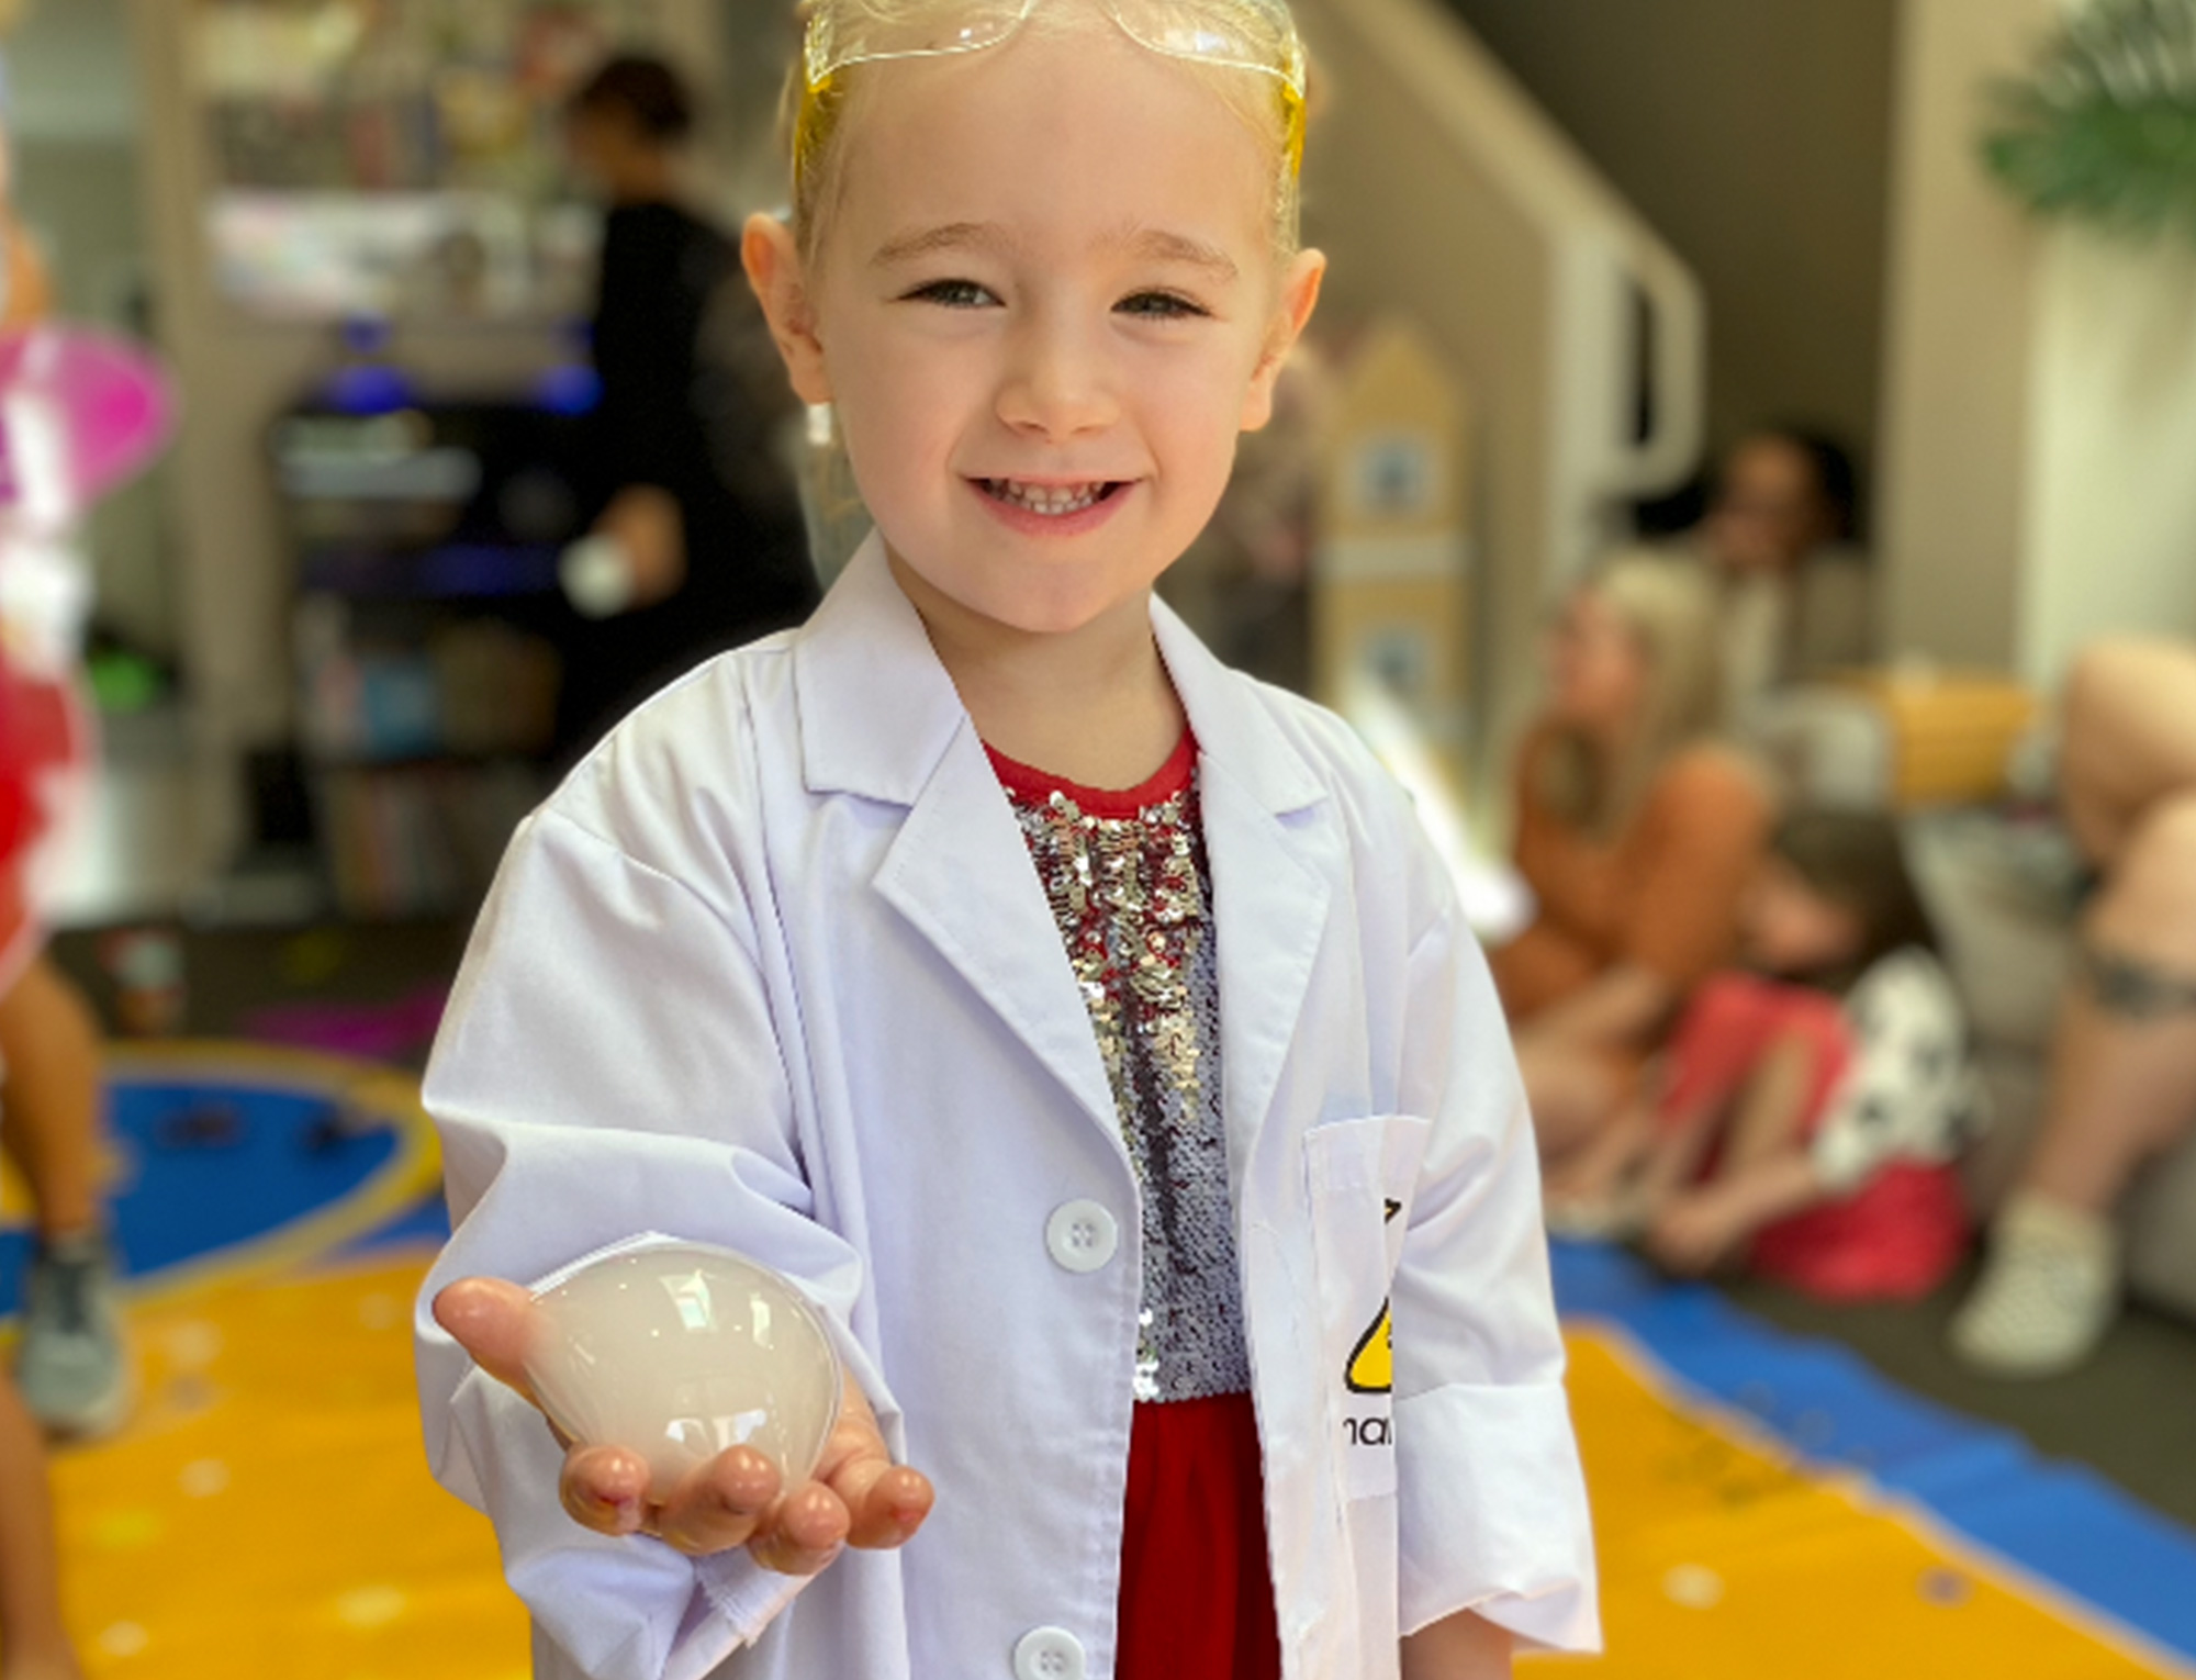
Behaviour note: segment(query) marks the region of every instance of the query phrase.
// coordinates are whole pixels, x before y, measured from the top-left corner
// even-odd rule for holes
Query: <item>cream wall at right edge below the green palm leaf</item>
[[[2060,11],[1904,4],[1882,426],[1889,646],[2040,687],[2196,635],[2196,253],[2038,226],[1979,156]]]

